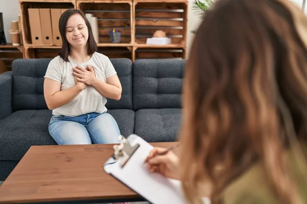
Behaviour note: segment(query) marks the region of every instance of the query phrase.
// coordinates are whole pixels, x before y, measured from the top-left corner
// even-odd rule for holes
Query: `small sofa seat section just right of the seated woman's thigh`
[[[135,112],[133,110],[109,109],[107,112],[116,120],[121,135],[127,137],[134,133]]]

